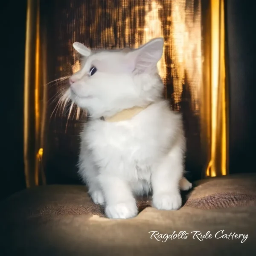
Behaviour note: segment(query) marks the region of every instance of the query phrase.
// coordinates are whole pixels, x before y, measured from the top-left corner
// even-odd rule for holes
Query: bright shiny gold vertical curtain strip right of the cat
[[[206,156],[204,174],[228,174],[228,88],[225,64],[224,0],[204,2],[201,138]]]

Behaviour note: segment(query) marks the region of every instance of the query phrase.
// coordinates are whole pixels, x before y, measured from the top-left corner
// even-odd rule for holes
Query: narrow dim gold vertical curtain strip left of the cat
[[[27,0],[24,78],[24,167],[26,187],[46,184],[42,170],[45,119],[43,55],[40,42],[40,1]]]

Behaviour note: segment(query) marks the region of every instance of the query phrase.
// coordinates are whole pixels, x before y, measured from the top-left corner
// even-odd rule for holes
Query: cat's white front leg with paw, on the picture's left
[[[133,218],[138,214],[136,200],[129,183],[110,174],[99,175],[106,200],[105,213],[108,218]]]

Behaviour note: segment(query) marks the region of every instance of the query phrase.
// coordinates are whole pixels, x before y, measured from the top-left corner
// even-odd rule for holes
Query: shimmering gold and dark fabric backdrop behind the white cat
[[[186,171],[192,180],[201,178],[202,173],[215,176],[226,172],[225,159],[221,158],[218,171],[214,160],[216,150],[221,150],[222,155],[227,149],[226,140],[216,148],[216,136],[212,136],[212,124],[214,128],[216,120],[223,124],[212,111],[220,91],[220,83],[212,75],[218,79],[222,55],[212,63],[218,67],[213,73],[211,53],[215,48],[205,46],[207,40],[210,46],[215,44],[210,41],[210,19],[212,12],[219,14],[221,8],[212,8],[210,0],[203,3],[204,6],[201,0],[41,0],[39,4],[28,0],[26,69],[30,68],[30,73],[25,75],[25,102],[32,102],[34,112],[28,114],[29,104],[25,104],[27,186],[78,182],[78,135],[85,113],[69,102],[58,104],[57,97],[67,86],[67,77],[80,68],[79,56],[72,48],[74,41],[92,49],[119,49],[163,37],[164,54],[158,67],[165,84],[164,96],[173,110],[183,113],[188,148]],[[33,21],[38,26],[32,26]],[[209,29],[208,34],[205,28]],[[219,29],[215,38],[218,35],[222,35]],[[33,43],[36,49],[31,50],[29,45]],[[221,49],[216,48],[213,54],[218,55]],[[33,68],[31,55],[35,57]],[[225,92],[225,87],[221,88]],[[226,137],[225,129],[221,130],[222,137]],[[35,134],[34,144],[29,143],[29,131]],[[35,159],[34,164],[29,162],[29,155]]]

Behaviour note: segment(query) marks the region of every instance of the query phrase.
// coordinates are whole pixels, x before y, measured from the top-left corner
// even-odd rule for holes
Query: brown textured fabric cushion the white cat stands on
[[[150,207],[150,198],[138,198],[136,218],[110,220],[83,186],[26,189],[1,204],[0,245],[6,256],[256,255],[256,175],[201,180],[183,194],[183,200],[177,211],[160,211]],[[187,235],[179,238],[156,236],[183,231]],[[199,241],[194,231],[208,232],[212,238]],[[217,237],[248,237],[217,239],[218,231]]]

